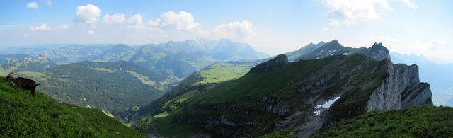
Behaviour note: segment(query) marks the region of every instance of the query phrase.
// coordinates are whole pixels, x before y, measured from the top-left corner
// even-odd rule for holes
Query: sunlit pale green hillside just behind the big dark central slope
[[[139,110],[126,110],[120,113],[113,113],[127,123],[134,125],[137,121],[150,113],[159,112],[160,107],[168,100],[176,98],[190,91],[205,91],[224,81],[238,79],[259,62],[218,62],[212,64],[201,71],[190,74],[187,78],[164,94],[164,96],[144,105]],[[128,121],[125,118],[128,118]]]

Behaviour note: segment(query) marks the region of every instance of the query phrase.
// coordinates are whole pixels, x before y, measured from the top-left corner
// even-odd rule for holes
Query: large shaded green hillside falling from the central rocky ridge
[[[349,71],[359,65],[360,70],[346,76],[356,81],[339,81],[340,74],[346,74],[342,71]],[[185,137],[197,133],[219,137],[259,136],[273,132],[277,129],[276,122],[285,120],[287,115],[297,110],[310,112],[313,103],[306,103],[306,100],[328,99],[338,94],[338,90],[345,85],[357,85],[355,89],[360,87],[360,91],[348,91],[346,94],[362,102],[362,98],[354,97],[353,93],[369,95],[384,75],[383,69],[379,68],[379,62],[355,55],[302,60],[290,62],[275,71],[249,72],[239,79],[226,81],[206,91],[195,89],[172,98],[161,105],[159,112],[142,118],[134,128],[145,134],[163,136]],[[299,86],[320,81],[332,74],[333,78],[326,85],[336,84],[321,92],[295,91]],[[360,105],[344,106],[359,108]],[[268,110],[268,107],[272,110]],[[301,115],[303,117],[304,114]],[[296,125],[304,122],[294,120],[290,123]]]

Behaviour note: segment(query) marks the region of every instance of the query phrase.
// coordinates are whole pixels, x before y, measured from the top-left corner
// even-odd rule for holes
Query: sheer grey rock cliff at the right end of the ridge
[[[432,105],[430,85],[420,83],[417,65],[392,64],[387,59],[385,66],[388,76],[370,96],[367,111],[388,111],[413,105]]]

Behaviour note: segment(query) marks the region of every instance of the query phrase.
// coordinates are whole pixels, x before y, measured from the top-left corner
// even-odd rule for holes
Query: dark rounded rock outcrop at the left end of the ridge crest
[[[270,71],[273,69],[278,69],[280,67],[285,66],[288,64],[288,57],[285,54],[280,54],[274,59],[270,59],[267,62],[263,62],[261,64],[256,65],[252,69],[251,72],[258,72],[258,71]]]

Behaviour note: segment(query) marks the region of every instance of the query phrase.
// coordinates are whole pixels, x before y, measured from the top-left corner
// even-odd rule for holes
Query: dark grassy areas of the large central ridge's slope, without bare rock
[[[300,100],[308,98],[309,93],[294,93],[294,88],[292,88],[292,86],[288,86],[289,81],[309,76],[312,72],[323,68],[323,65],[333,62],[336,58],[348,58],[350,59],[350,62],[348,62],[348,64],[351,64],[350,67],[356,67],[357,64],[360,64],[360,61],[362,61],[365,57],[359,55],[350,57],[336,56],[321,60],[306,60],[288,64],[286,67],[277,69],[270,73],[247,74],[240,79],[219,84],[219,86],[215,86],[208,91],[191,91],[184,93],[183,95],[173,98],[172,100],[168,100],[168,102],[166,102],[161,108],[163,111],[161,114],[144,117],[142,122],[139,122],[136,128],[142,132],[151,132],[164,136],[171,136],[174,134],[190,134],[193,130],[202,131],[203,129],[196,127],[196,125],[179,122],[185,117],[197,119],[197,117],[205,117],[205,115],[215,116],[226,114],[230,115],[230,119],[231,117],[239,117],[238,115],[231,113],[231,111],[214,110],[211,107],[212,105],[225,103],[226,105],[231,104],[231,106],[229,106],[231,108],[235,107],[239,108],[239,110],[251,110],[251,112],[258,112],[253,116],[240,115],[242,116],[239,117],[241,120],[254,120],[263,123],[261,125],[272,126],[272,124],[275,123],[275,120],[280,120],[283,117],[275,114],[259,113],[260,111],[258,111],[258,108],[265,105],[265,103],[260,103],[253,99],[260,98],[261,96],[267,96],[269,98],[282,98],[282,103],[277,104],[274,107],[288,108],[289,106],[292,110],[295,108],[299,108],[298,110],[309,108],[308,105],[304,105],[303,101]],[[377,64],[379,64],[379,62],[372,62],[365,67],[377,67]],[[371,71],[371,69],[365,70]],[[328,70],[325,71],[329,72]],[[333,72],[333,70],[330,72]],[[376,79],[381,79],[379,77],[379,73],[373,76]],[[377,80],[377,82],[379,82],[379,80]],[[323,97],[328,97],[328,95],[331,95],[335,89],[336,88],[330,88],[324,91]],[[272,120],[269,120],[270,118],[272,118]],[[178,128],[178,130],[181,131],[178,131],[177,133],[175,131],[170,131],[170,129],[175,128]],[[250,132],[252,130],[239,131]],[[209,133],[209,131],[205,132]]]

